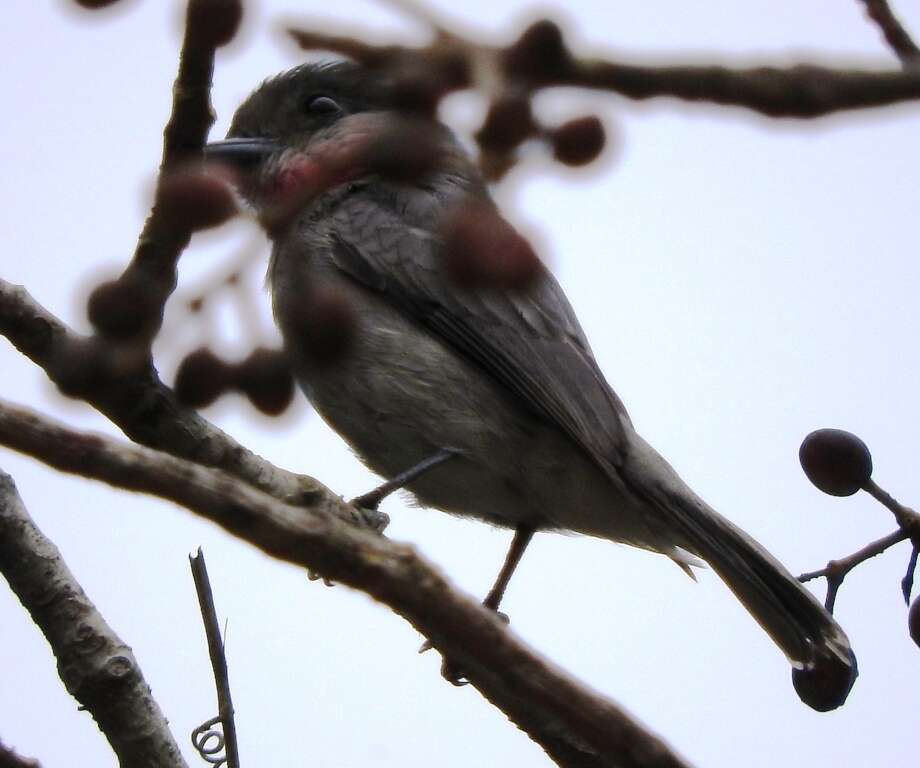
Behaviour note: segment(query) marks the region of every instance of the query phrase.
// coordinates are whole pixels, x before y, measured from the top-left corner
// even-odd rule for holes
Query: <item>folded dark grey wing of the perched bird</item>
[[[412,195],[375,185],[342,199],[326,220],[335,264],[557,424],[602,469],[620,466],[629,416],[559,284],[545,271],[526,292],[457,288],[431,233],[444,203]]]

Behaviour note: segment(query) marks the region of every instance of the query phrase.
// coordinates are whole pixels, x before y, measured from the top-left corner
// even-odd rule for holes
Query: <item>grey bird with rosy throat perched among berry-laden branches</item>
[[[301,64],[205,150],[267,222],[273,312],[316,411],[420,504],[514,530],[489,608],[537,531],[633,545],[691,575],[705,563],[788,658],[799,697],[843,704],[858,674],[843,629],[636,432],[550,271],[537,260],[526,287],[458,283],[445,236],[458,210],[467,240],[482,222],[499,257],[519,236],[453,132],[410,120],[395,94],[360,63]],[[304,318],[321,297],[352,318],[334,364],[310,351]]]

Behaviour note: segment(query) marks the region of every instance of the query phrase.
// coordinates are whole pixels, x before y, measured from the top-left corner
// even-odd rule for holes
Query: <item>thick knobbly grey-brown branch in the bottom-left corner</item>
[[[131,649],[106,624],[2,472],[0,571],[51,646],[68,692],[96,720],[122,768],[184,768]]]

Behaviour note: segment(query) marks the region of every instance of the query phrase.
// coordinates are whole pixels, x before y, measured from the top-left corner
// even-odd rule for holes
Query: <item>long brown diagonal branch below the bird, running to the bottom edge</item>
[[[559,765],[686,766],[612,701],[530,650],[412,547],[344,524],[347,505],[332,493],[309,508],[291,507],[223,472],[75,432],[9,404],[0,404],[0,443],[64,472],[174,501],[273,557],[366,592],[460,664]]]

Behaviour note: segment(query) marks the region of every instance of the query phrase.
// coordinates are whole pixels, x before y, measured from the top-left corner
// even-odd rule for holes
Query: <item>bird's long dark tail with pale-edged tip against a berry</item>
[[[836,709],[856,681],[856,656],[833,616],[766,549],[701,499],[666,493],[658,506],[792,662],[796,692]],[[673,529],[672,529],[673,530]]]

